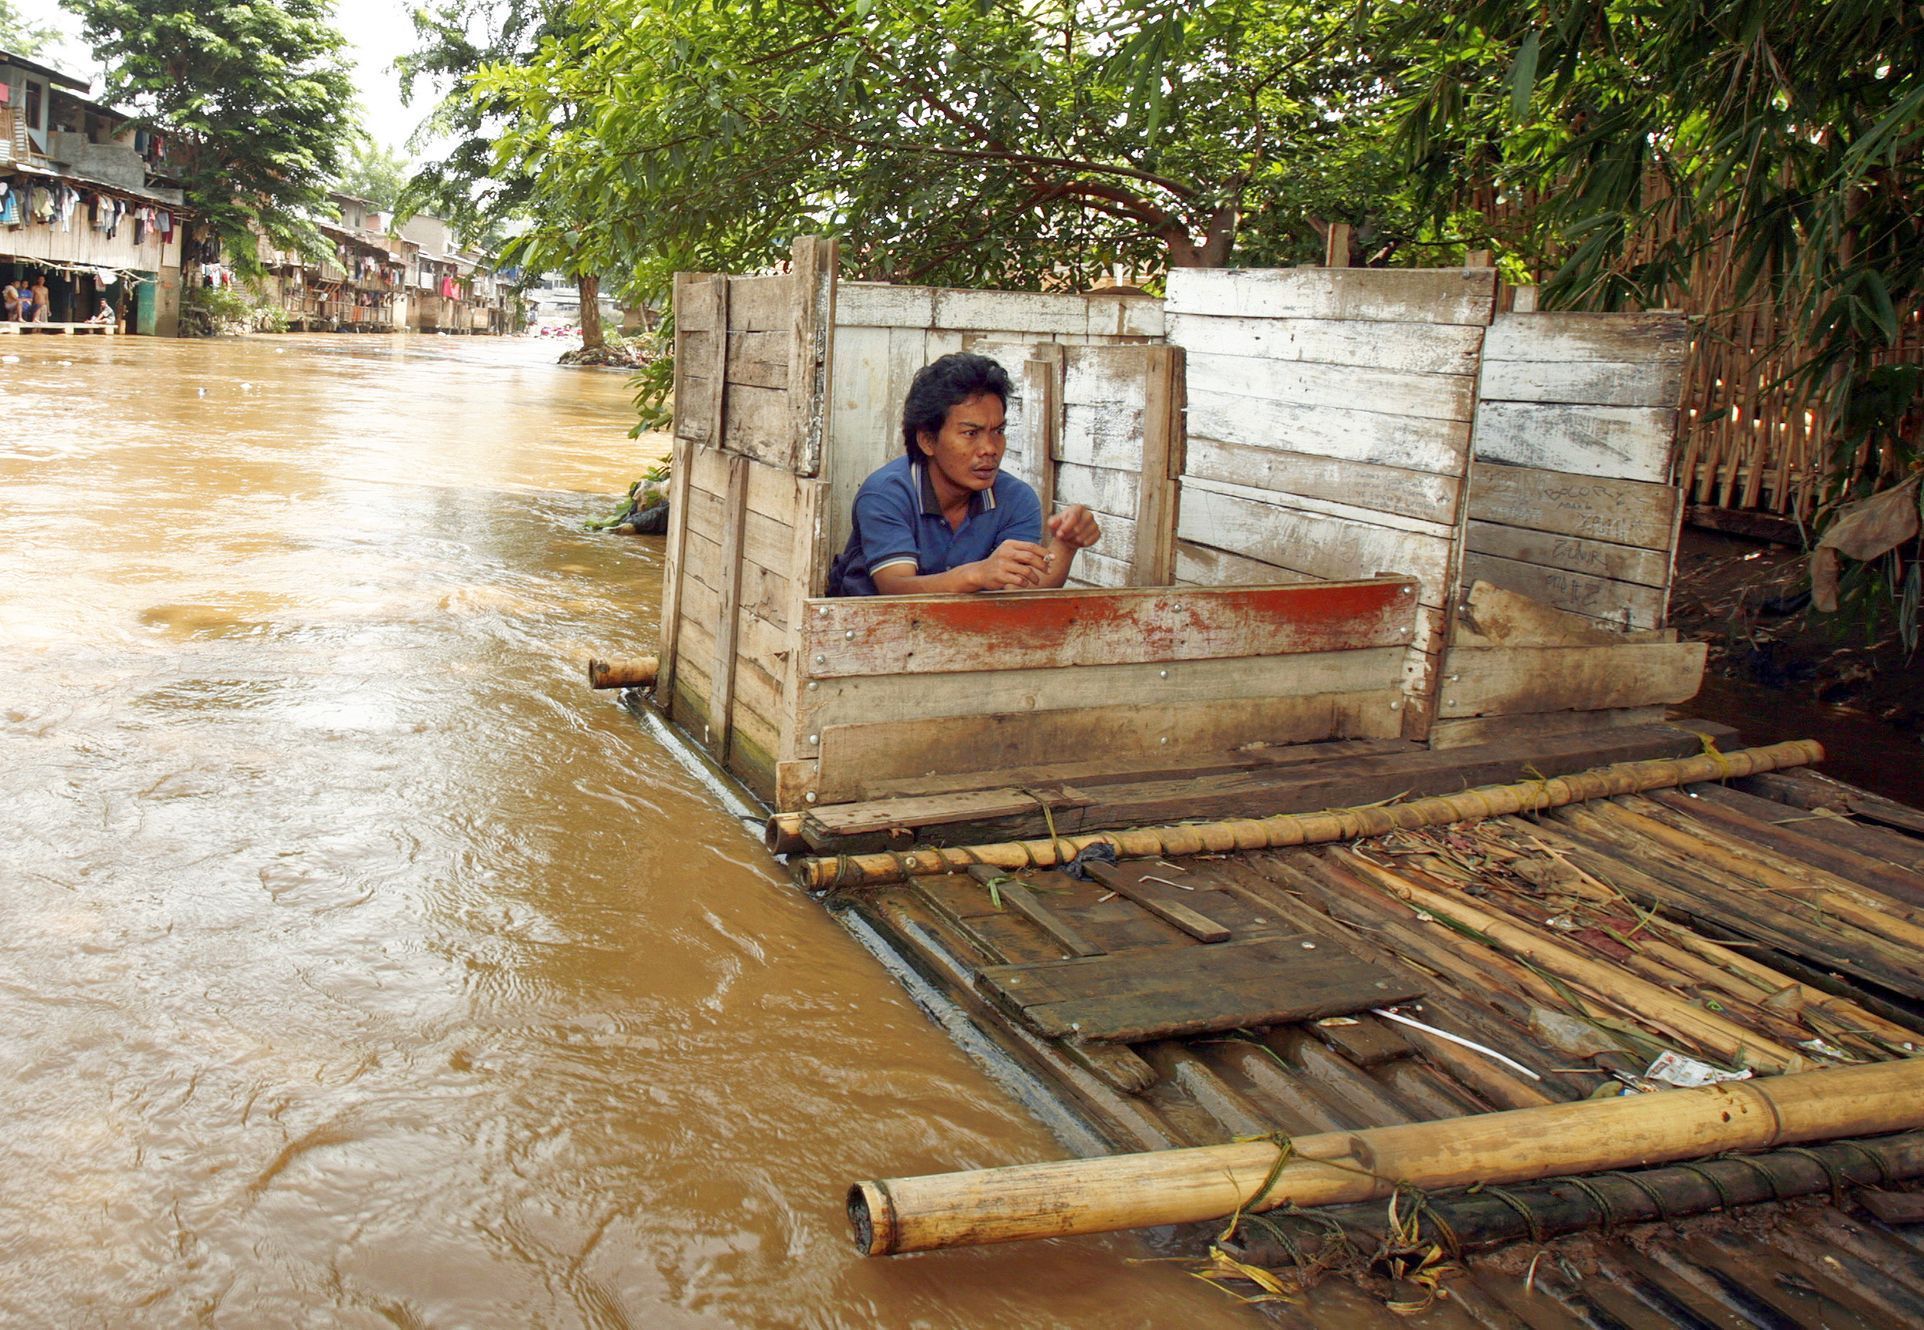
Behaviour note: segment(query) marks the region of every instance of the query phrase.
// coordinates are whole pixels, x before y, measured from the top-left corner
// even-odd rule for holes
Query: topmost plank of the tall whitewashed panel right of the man
[[[1237,318],[1489,323],[1497,273],[1487,268],[1177,268],[1170,314]]]

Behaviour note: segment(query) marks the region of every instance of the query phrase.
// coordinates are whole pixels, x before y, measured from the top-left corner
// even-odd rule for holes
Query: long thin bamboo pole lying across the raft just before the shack
[[[1170,855],[1220,855],[1226,851],[1322,845],[1383,835],[1399,828],[1437,826],[1510,812],[1560,808],[1585,799],[1607,799],[1645,789],[1668,789],[1693,781],[1728,780],[1785,766],[1822,762],[1824,749],[1814,739],[1791,739],[1762,749],[1705,753],[1693,758],[1618,762],[1557,780],[1485,785],[1460,795],[1433,795],[1401,805],[1335,808],[1329,812],[1287,812],[1274,818],[1235,822],[1195,822],[1185,826],[1127,828],[1089,835],[1058,835],[1051,841],[1002,841],[952,849],[916,849],[887,855],[833,855],[802,858],[795,878],[810,891],[829,887],[877,887],[908,882],[918,874],[964,872],[972,864],[991,868],[1052,868],[1087,845],[1116,847],[1120,858],[1164,858]]]

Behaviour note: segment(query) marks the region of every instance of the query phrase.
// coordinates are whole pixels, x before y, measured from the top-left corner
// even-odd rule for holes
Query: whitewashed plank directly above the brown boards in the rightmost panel
[[[1626,481],[1670,479],[1676,412],[1660,406],[1535,406],[1483,402],[1476,456]]]

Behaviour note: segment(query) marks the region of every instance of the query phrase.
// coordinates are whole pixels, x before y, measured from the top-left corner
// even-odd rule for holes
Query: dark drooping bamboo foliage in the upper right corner
[[[1553,304],[1762,304],[1835,427],[1830,493],[1924,462],[1887,364],[1924,302],[1924,8],[1914,0],[1439,0],[1391,29],[1405,144],[1437,212],[1530,204]]]

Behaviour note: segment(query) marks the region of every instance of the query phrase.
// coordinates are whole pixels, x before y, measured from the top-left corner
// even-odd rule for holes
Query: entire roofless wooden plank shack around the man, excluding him
[[[1643,718],[1695,689],[1701,649],[1608,627],[1655,627],[1668,587],[1668,323],[1497,320],[1487,269],[1185,269],[1166,304],[833,269],[833,244],[802,241],[785,273],[675,291],[656,695],[777,808],[933,770],[1181,770],[1435,726],[1470,741],[1535,712]],[[1066,591],[818,599],[856,487],[902,447],[914,371],[949,350],[1010,370],[1004,466],[1045,510],[1093,508],[1102,543]],[[1599,485],[1618,525],[1587,525]],[[1528,601],[1549,627],[1458,635],[1458,589],[1545,593],[1510,564],[1616,599],[1589,618]],[[1324,631],[1356,597],[1378,597],[1368,631]]]

